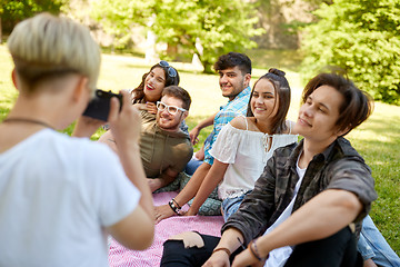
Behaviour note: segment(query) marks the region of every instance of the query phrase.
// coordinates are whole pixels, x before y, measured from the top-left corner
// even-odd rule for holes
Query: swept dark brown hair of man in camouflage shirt
[[[330,86],[337,89],[344,98],[339,107],[339,118],[336,122],[339,131],[347,130],[344,135],[361,125],[372,113],[373,100],[371,96],[356,87],[348,78],[337,73],[320,73],[312,78],[303,90],[302,103],[321,86]]]

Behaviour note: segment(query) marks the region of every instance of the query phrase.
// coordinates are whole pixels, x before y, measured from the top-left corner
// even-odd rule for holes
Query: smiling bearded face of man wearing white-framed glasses
[[[183,108],[183,101],[174,97],[163,96],[160,101],[168,106],[176,106],[178,108]],[[187,116],[188,116],[188,111],[178,110],[176,115],[171,115],[170,112],[168,112],[168,109],[166,108],[163,111],[157,110],[156,120],[157,120],[157,125],[161,129],[168,131],[177,131],[179,130],[182,120]]]

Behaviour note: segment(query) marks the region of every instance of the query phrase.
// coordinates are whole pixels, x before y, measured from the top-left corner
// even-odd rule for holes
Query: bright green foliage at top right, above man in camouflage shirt
[[[400,2],[336,0],[304,28],[307,78],[338,66],[377,100],[400,105]]]

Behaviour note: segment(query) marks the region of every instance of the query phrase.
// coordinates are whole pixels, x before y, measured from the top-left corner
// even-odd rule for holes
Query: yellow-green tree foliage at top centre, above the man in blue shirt
[[[256,47],[250,38],[263,32],[254,29],[258,18],[253,4],[242,0],[99,0],[93,18],[122,40],[130,36],[132,26],[143,26],[158,41],[198,53],[207,72],[221,53]]]

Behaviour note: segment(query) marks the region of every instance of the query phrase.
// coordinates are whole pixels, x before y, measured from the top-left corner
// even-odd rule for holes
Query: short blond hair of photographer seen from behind
[[[50,78],[79,73],[93,92],[100,70],[100,49],[89,29],[68,19],[40,13],[16,26],[7,41],[23,81],[34,85]]]

